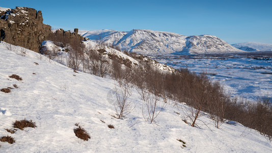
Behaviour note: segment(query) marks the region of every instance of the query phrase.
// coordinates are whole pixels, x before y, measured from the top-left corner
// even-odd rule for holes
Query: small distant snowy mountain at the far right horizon
[[[247,52],[272,51],[272,44],[260,42],[235,43],[232,46]]]

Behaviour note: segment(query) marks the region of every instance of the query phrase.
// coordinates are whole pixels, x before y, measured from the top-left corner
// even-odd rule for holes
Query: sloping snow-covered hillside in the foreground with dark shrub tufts
[[[174,101],[167,104],[156,123],[146,122],[142,116],[143,101],[135,89],[129,98],[135,109],[125,118],[116,119],[112,117],[114,105],[107,98],[115,87],[113,80],[75,73],[31,50],[22,57],[0,43],[0,65],[0,88],[13,84],[19,87],[10,93],[0,92],[0,137],[9,135],[16,141],[0,142],[0,152],[272,151],[272,143],[265,137],[239,123],[223,123],[216,129],[203,116],[201,120],[208,127],[201,122],[201,129],[189,126],[181,119],[187,106],[174,105]],[[22,81],[9,78],[11,74],[18,74]],[[14,134],[5,130],[11,129],[15,120],[24,118],[35,121],[37,127]],[[90,134],[88,141],[75,136],[74,124],[78,122]],[[109,129],[108,124],[115,129]],[[182,148],[177,139],[186,142],[186,147]]]

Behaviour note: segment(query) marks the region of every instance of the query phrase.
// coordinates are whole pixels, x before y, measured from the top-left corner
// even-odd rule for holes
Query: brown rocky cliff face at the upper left
[[[57,33],[51,32],[51,26],[43,24],[41,11],[32,8],[16,7],[0,10],[0,41],[22,46],[39,52],[42,41]],[[67,39],[83,40],[74,33],[59,31],[58,35]]]

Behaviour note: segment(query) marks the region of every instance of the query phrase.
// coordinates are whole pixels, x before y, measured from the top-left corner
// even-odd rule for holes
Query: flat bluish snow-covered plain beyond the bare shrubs
[[[268,53],[268,52],[267,52]],[[269,53],[268,53],[269,55]],[[258,55],[260,57],[260,55]],[[234,56],[169,56],[152,57],[162,64],[174,68],[188,68],[202,73],[216,73],[209,75],[212,80],[219,80],[232,95],[238,98],[256,100],[258,97],[272,97],[272,56],[253,58],[242,53]]]

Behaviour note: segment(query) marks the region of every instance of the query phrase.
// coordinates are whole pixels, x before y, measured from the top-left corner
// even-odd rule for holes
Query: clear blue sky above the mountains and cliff
[[[272,43],[272,1],[96,0],[2,1],[0,7],[35,8],[53,29],[149,29],[186,36],[215,35],[228,43]]]

